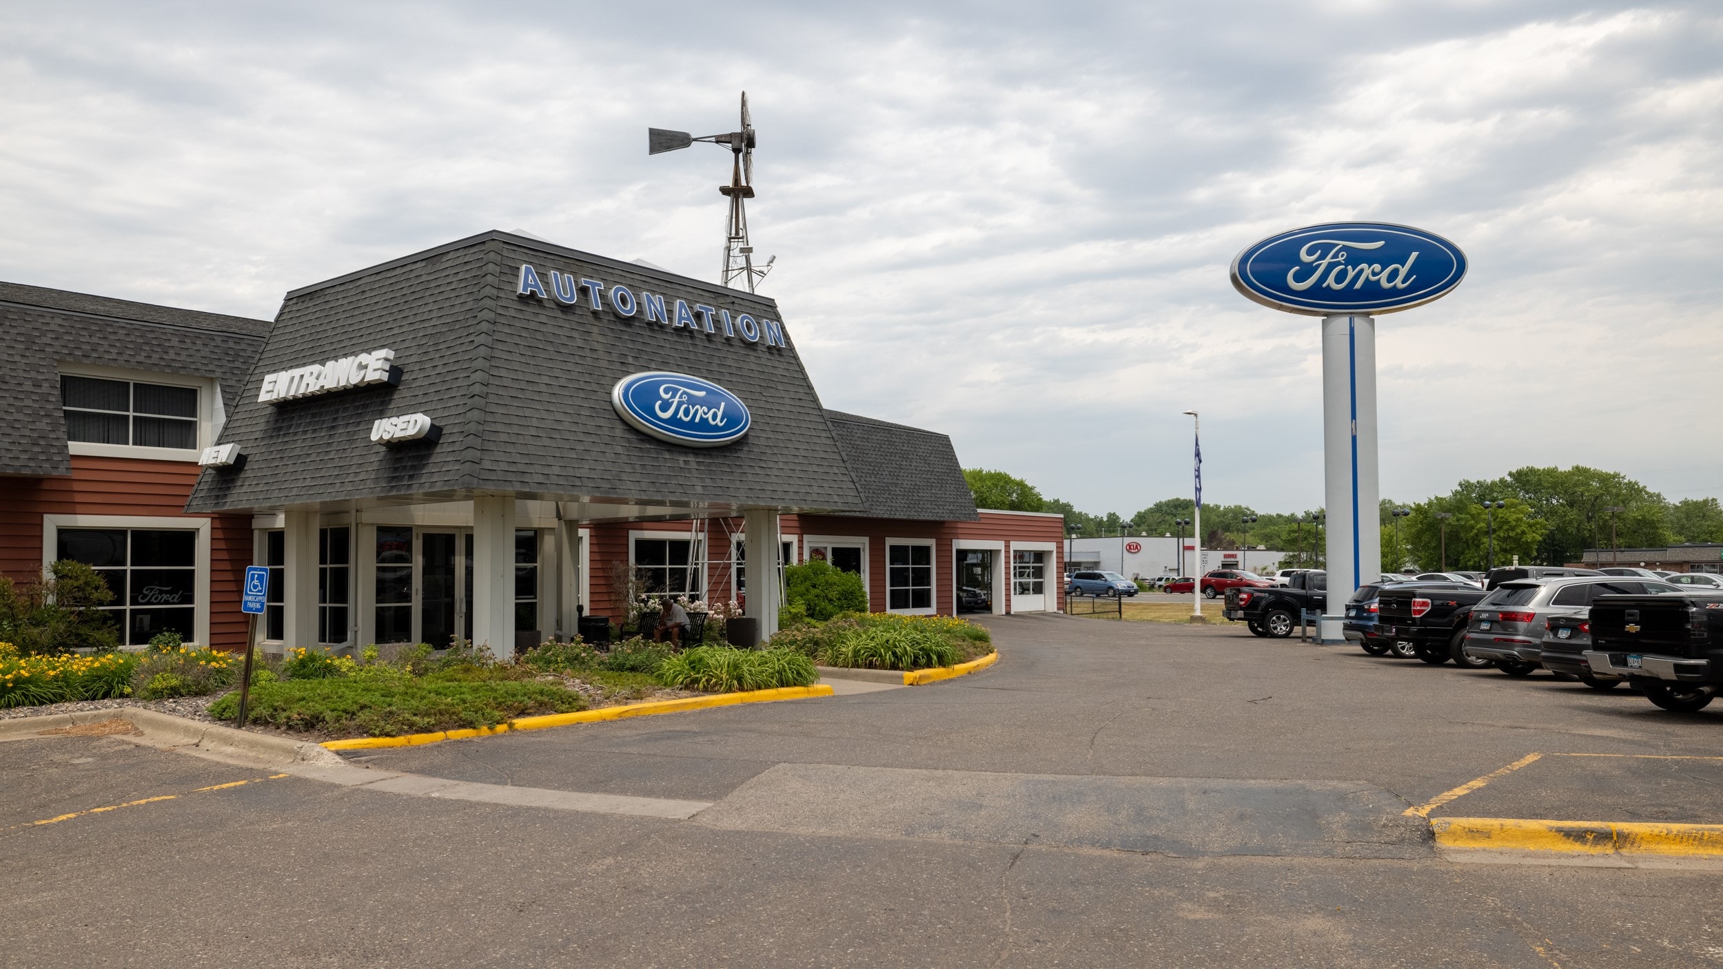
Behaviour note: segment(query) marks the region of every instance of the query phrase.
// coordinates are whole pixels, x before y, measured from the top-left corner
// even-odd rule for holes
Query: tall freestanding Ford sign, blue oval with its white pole
[[[1270,236],[1232,260],[1232,286],[1285,313],[1322,317],[1322,441],[1328,596],[1320,637],[1342,640],[1342,609],[1382,573],[1377,478],[1377,320],[1451,293],[1466,255],[1387,222],[1328,222]]]

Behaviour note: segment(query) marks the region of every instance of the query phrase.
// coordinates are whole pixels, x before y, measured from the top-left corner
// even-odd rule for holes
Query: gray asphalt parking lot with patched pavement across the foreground
[[[1718,873],[1454,864],[1406,816],[1520,764],[1428,814],[1723,823],[1723,711],[1237,626],[989,625],[1003,659],[956,682],[350,757],[710,804],[687,819],[0,744],[0,962],[1723,962]]]

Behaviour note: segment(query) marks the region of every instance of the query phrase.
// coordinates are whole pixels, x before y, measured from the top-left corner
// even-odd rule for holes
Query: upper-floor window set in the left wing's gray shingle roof
[[[196,447],[198,391],[136,380],[60,377],[65,439],[140,447]]]

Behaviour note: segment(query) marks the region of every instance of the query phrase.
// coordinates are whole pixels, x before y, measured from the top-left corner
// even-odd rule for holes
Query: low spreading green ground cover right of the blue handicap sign
[[[239,694],[210,704],[210,716],[238,714]],[[400,737],[438,730],[495,726],[522,716],[574,713],[586,701],[536,682],[367,680],[362,676],[283,680],[252,688],[248,716],[284,730],[343,737]]]

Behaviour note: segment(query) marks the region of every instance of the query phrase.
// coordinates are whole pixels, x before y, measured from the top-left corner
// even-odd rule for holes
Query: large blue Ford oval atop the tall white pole
[[[1394,313],[1446,296],[1466,275],[1447,239],[1387,222],[1330,222],[1270,236],[1232,260],[1232,286],[1289,313]]]

